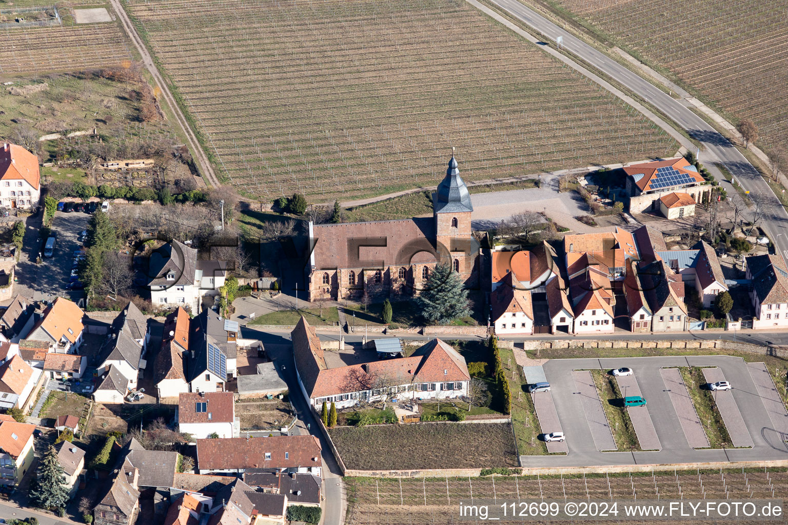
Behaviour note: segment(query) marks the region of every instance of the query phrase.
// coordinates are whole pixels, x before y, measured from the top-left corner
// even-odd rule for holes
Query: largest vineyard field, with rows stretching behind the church
[[[250,197],[348,200],[653,156],[676,142],[462,0],[128,0]]]

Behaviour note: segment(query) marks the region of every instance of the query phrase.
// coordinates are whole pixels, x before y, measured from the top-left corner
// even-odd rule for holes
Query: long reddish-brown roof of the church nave
[[[314,224],[315,270],[397,266],[439,260],[433,246],[433,217],[375,220],[364,223]],[[351,239],[381,239],[378,246],[354,248]],[[385,238],[385,241],[382,239]],[[356,242],[358,244],[358,242]],[[370,244],[364,242],[363,244]],[[342,246],[341,249],[338,247]],[[415,255],[414,255],[415,254]]]

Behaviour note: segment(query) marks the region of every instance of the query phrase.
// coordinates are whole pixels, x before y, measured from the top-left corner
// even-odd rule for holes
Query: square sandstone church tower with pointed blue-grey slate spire
[[[452,151],[454,148],[452,148]],[[435,236],[441,257],[448,252],[452,257],[452,268],[461,275],[470,275],[477,253],[471,242],[470,216],[474,206],[470,204],[470,193],[459,176],[457,161],[452,155],[443,181],[433,194]]]

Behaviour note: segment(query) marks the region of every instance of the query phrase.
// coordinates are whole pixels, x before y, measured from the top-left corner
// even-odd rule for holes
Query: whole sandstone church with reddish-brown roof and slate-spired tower
[[[309,300],[370,301],[418,295],[439,262],[478,285],[480,247],[471,235],[474,207],[452,156],[433,194],[433,216],[363,223],[309,224]]]

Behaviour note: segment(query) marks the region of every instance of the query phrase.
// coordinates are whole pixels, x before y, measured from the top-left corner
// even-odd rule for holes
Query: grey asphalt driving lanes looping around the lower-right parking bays
[[[660,368],[666,366],[717,366],[734,384],[732,394],[753,438],[752,449],[693,449],[671,403]],[[524,467],[597,466],[616,464],[670,464],[696,461],[788,459],[788,446],[775,430],[764,400],[744,360],[729,356],[623,357],[616,359],[559,359],[545,363],[545,375],[561,426],[567,430],[567,456],[522,456]],[[629,367],[635,371],[641,393],[649,401],[651,416],[662,448],[658,452],[603,453],[594,443],[583,408],[582,394],[573,381],[574,370]]]

